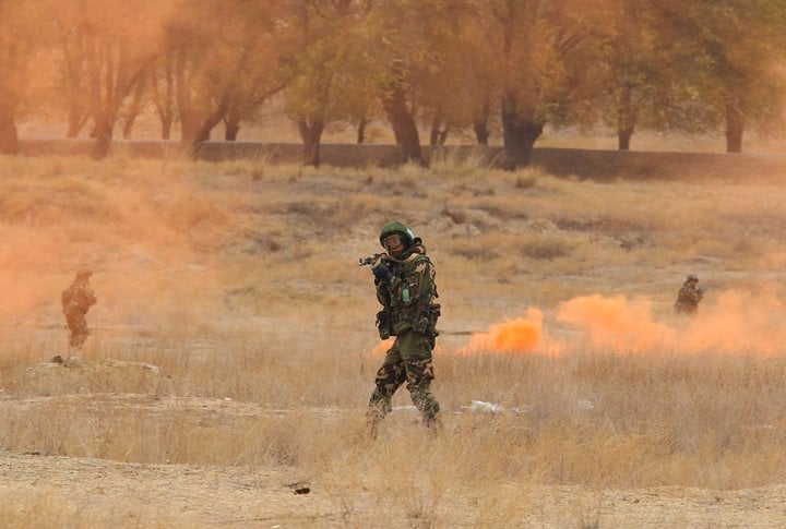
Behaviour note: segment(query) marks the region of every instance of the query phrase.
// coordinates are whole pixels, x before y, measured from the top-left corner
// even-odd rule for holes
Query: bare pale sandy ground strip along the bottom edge
[[[99,517],[106,510],[120,514],[129,526],[352,526],[370,520],[373,512],[370,498],[366,512],[362,503],[344,512],[320,483],[300,481],[288,468],[140,465],[0,453],[0,477],[3,496],[46,494],[47,502],[87,506]],[[298,493],[306,489],[308,493]],[[783,485],[723,493],[681,488],[596,492],[564,486],[527,492],[532,514],[520,520],[520,527],[572,526],[580,505],[593,514],[594,519],[584,521],[586,527],[786,525]],[[439,525],[444,527],[475,525],[477,514],[463,502],[448,501],[441,512]]]

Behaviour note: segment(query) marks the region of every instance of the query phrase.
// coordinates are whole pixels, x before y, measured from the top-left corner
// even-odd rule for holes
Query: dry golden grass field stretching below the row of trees
[[[786,183],[123,157],[7,157],[0,175],[7,455],[158,478],[275,471],[313,489],[305,518],[243,518],[260,527],[703,526],[705,495],[783,495]],[[380,251],[390,219],[437,267],[437,437],[404,388],[380,438],[365,435],[384,349],[357,259]],[[74,352],[59,296],[84,265],[98,304]],[[690,273],[707,294],[695,318],[676,317]],[[695,502],[636,515],[619,500],[669,488]],[[617,518],[610,497],[631,512]],[[0,486],[9,526],[227,521],[156,505]],[[783,515],[743,510],[718,522]]]

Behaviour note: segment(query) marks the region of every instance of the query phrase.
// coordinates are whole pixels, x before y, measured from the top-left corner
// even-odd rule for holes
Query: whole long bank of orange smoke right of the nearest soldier
[[[549,338],[547,327],[555,326]],[[559,330],[558,330],[559,329]],[[777,356],[786,352],[786,305],[775,288],[726,290],[700,304],[698,314],[656,311],[647,297],[599,293],[561,303],[553,322],[538,309],[474,334],[460,353],[539,353],[603,350],[615,353],[722,352]]]

